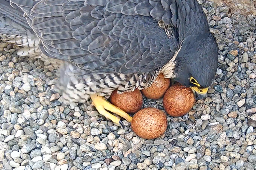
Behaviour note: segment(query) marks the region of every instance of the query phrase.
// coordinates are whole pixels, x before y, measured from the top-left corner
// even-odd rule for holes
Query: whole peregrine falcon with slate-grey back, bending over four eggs
[[[152,85],[160,73],[206,94],[218,46],[197,0],[4,0],[0,13],[35,35],[2,38],[21,55],[63,62],[58,88],[69,102],[91,98],[98,112],[122,125],[132,117],[109,103]],[[4,4],[4,3],[3,3]],[[5,3],[6,4],[6,3]],[[22,21],[26,19],[26,22]]]

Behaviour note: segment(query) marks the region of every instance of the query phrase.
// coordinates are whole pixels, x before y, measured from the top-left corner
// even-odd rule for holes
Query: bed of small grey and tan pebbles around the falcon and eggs
[[[198,0],[219,46],[208,97],[183,117],[168,116],[155,140],[99,115],[91,101],[62,104],[56,70],[17,56],[0,40],[0,169],[256,169],[256,19]],[[144,107],[163,109],[144,98]]]

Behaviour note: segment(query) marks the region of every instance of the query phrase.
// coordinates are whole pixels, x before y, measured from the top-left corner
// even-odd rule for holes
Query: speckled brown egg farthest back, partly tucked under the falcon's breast
[[[164,75],[160,73],[150,87],[141,90],[142,95],[148,99],[160,99],[165,95],[170,83],[170,79],[166,79]]]

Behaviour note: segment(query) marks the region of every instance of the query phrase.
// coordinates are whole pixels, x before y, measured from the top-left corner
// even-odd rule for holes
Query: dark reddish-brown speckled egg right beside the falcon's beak
[[[171,86],[163,97],[163,107],[167,114],[177,117],[190,111],[196,99],[191,88],[179,83]]]

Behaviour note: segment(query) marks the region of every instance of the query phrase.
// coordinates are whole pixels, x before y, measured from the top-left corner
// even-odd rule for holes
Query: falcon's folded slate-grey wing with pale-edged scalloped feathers
[[[170,61],[177,48],[176,37],[169,39],[158,26],[162,20],[176,27],[178,11],[169,0],[12,2],[28,11],[45,55],[90,72],[149,72]]]

